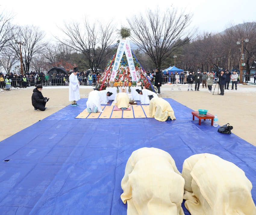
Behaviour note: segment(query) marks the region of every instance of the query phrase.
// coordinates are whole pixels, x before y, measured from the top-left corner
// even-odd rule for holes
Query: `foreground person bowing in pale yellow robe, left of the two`
[[[173,158],[158,148],[132,153],[121,182],[127,215],[184,215],[184,179]]]

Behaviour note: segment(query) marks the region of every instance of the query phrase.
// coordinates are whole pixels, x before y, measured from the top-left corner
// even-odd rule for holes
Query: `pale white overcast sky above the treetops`
[[[127,25],[126,17],[144,12],[145,9],[155,9],[157,6],[164,11],[166,8],[186,8],[193,13],[192,26],[200,31],[223,31],[229,22],[242,23],[256,20],[255,0],[43,0],[43,1],[1,1],[1,10],[13,11],[16,16],[14,23],[19,25],[37,25],[51,35],[60,36],[57,26],[62,27],[64,21],[82,21],[84,16],[89,19],[108,21],[111,18],[120,25]],[[242,12],[242,13],[241,13]],[[121,16],[119,16],[121,15]]]

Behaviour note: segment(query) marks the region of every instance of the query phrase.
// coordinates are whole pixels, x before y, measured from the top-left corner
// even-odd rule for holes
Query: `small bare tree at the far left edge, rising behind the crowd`
[[[1,57],[0,57],[0,66],[4,68],[6,73],[13,72],[11,68],[18,61],[15,52],[9,47],[4,47],[2,49]]]

